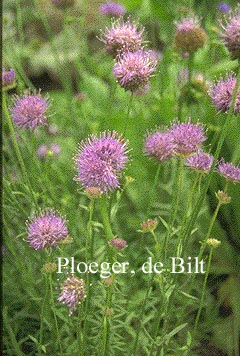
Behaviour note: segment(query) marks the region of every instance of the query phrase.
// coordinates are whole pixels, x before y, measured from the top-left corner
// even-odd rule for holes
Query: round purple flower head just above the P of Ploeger
[[[55,210],[46,209],[27,221],[27,234],[35,250],[56,247],[68,236],[67,221]]]

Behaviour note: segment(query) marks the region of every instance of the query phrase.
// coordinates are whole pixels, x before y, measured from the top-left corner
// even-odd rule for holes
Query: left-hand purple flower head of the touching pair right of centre
[[[173,150],[173,137],[168,131],[147,135],[143,151],[148,157],[162,162],[173,156]]]

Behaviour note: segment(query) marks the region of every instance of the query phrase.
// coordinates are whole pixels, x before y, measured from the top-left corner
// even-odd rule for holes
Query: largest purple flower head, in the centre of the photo
[[[74,157],[75,180],[85,188],[99,188],[108,193],[119,187],[119,177],[128,161],[127,141],[117,132],[103,132],[100,137],[91,135],[81,142]]]

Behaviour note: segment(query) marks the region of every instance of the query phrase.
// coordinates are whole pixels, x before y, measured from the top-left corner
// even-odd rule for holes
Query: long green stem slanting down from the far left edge
[[[4,114],[5,114],[5,118],[6,118],[9,130],[10,130],[12,143],[13,143],[16,155],[17,155],[17,159],[18,159],[21,171],[22,171],[23,178],[24,178],[24,180],[26,182],[26,185],[27,185],[27,187],[29,189],[30,194],[32,195],[32,199],[33,199],[33,202],[35,204],[35,207],[38,208],[38,203],[37,203],[37,200],[36,200],[32,185],[30,183],[30,180],[29,180],[29,177],[28,177],[28,174],[27,174],[27,170],[26,170],[23,158],[22,158],[21,151],[20,151],[18,143],[17,143],[17,139],[16,139],[13,123],[12,123],[12,120],[11,120],[10,115],[9,115],[9,111],[8,111],[8,107],[7,107],[7,100],[6,100],[5,95],[3,95],[3,110],[4,110]]]

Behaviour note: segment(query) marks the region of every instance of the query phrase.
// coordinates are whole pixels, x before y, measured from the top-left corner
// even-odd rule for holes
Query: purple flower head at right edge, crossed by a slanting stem
[[[226,79],[220,78],[218,82],[213,84],[208,94],[210,95],[213,104],[215,105],[217,111],[227,112],[231,106],[232,96],[237,79],[233,73]],[[236,102],[234,106],[234,113],[239,114],[240,112],[240,87],[238,88]]]

